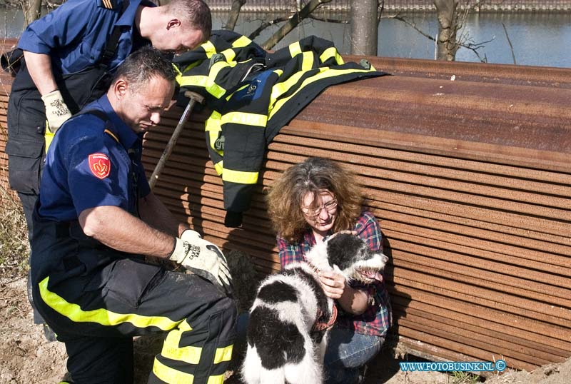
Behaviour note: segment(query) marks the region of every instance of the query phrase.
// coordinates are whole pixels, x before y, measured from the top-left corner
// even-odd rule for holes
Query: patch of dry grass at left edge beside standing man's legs
[[[28,271],[30,245],[19,201],[0,186],[0,276],[16,278]]]

